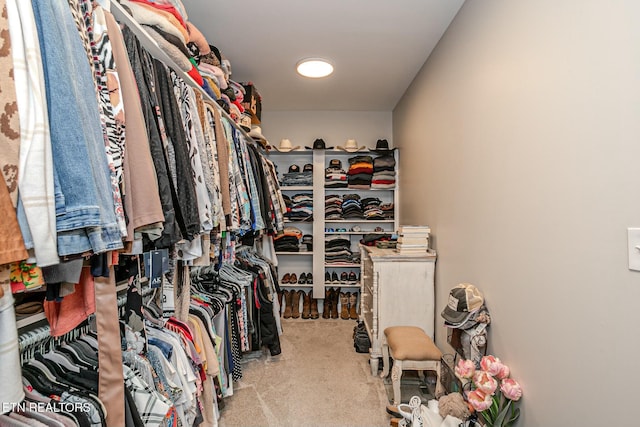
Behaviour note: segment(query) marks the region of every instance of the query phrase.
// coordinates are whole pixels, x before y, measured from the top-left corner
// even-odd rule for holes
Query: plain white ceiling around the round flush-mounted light
[[[269,111],[391,111],[464,0],[183,0],[191,21],[252,81]],[[306,57],[335,71],[295,72]]]

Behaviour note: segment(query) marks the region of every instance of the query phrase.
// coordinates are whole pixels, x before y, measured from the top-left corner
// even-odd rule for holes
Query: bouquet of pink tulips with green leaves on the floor
[[[488,427],[509,427],[520,416],[515,402],[522,397],[522,387],[509,378],[509,367],[494,356],[484,356],[480,369],[471,360],[461,359],[455,368],[460,378],[471,380],[467,401],[482,415]]]

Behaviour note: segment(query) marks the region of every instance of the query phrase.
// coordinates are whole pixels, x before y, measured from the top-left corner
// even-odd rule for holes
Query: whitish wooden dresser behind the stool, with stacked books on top
[[[400,255],[364,245],[360,249],[360,317],[371,339],[371,373],[377,375],[385,328],[419,326],[433,339],[436,253]]]

